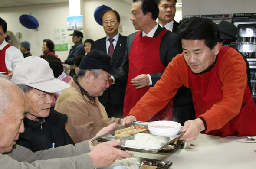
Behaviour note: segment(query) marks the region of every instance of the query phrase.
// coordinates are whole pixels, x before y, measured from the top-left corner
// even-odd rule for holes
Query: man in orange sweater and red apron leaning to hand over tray
[[[256,135],[256,107],[243,57],[235,49],[219,45],[220,32],[211,20],[183,20],[177,34],[183,53],[173,58],[161,80],[138,101],[123,123],[147,121],[184,85],[191,88],[196,119],[184,123],[181,139],[195,140],[199,133]]]

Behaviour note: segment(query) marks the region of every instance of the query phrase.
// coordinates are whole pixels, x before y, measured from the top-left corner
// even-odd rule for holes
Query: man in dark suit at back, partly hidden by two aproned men
[[[163,29],[177,33],[179,23],[174,20],[177,0],[155,0],[158,4],[158,23]],[[182,86],[173,98],[173,119],[182,125],[195,118],[192,94],[189,88]]]

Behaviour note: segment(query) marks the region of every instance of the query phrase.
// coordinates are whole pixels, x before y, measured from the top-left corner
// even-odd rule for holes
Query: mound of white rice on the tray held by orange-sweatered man
[[[134,140],[126,140],[125,146],[142,149],[159,149],[161,142],[151,136],[151,134],[138,133],[134,135]]]

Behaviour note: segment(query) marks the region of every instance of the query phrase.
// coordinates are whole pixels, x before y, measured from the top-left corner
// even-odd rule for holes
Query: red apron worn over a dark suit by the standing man
[[[129,114],[131,108],[133,108],[149,90],[149,86],[136,89],[136,86],[132,85],[131,79],[141,74],[152,74],[164,71],[165,66],[160,59],[160,42],[161,38],[167,32],[168,30],[165,29],[155,38],[140,37],[141,31],[135,35],[129,52],[129,72],[125,91],[123,117]],[[170,118],[172,118],[172,108]]]

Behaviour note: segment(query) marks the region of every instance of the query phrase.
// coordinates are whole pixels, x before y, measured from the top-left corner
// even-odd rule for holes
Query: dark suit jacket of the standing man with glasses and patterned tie
[[[126,39],[127,36],[119,35],[118,41],[115,46],[115,50],[112,56],[113,67],[118,69],[123,61],[125,50],[126,50]],[[92,49],[98,49],[107,53],[106,37],[96,40],[92,43]],[[127,83],[127,75],[122,76],[122,81],[116,81],[107,90],[104,91],[101,97],[98,97],[102,104],[106,104],[108,97],[110,96],[112,103],[123,104],[125,97],[125,88]]]

